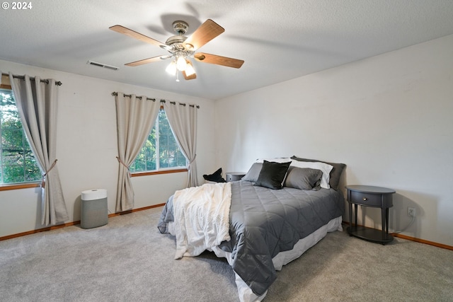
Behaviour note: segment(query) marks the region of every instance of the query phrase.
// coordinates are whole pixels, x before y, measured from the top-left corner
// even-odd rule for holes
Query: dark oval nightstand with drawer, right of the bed
[[[347,228],[350,236],[372,241],[374,243],[389,243],[394,240],[389,235],[389,208],[393,207],[392,194],[394,190],[386,187],[374,187],[370,185],[348,185],[348,203],[350,226]],[[352,219],[352,204],[354,204],[354,219]],[[357,206],[377,207],[381,209],[382,230],[357,226]],[[354,221],[352,221],[354,220]]]

